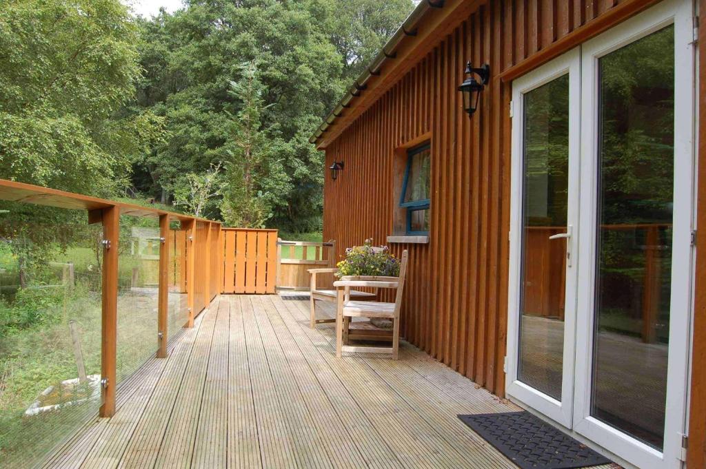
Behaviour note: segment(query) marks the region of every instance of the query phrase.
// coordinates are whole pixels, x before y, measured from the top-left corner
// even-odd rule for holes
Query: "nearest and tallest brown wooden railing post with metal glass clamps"
[[[115,413],[116,351],[118,329],[118,239],[120,208],[102,209],[103,220],[103,279],[101,313],[101,417]]]

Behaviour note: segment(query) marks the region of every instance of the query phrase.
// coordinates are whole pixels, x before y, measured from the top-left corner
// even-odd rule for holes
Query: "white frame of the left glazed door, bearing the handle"
[[[566,301],[564,312],[563,373],[561,401],[532,388],[517,379],[520,339],[520,295],[522,294],[522,196],[524,192],[524,95],[563,75],[569,75],[569,155],[567,224],[573,233],[567,239],[571,262],[566,267]],[[508,298],[508,369],[505,392],[525,406],[538,410],[564,427],[573,418],[574,341],[579,218],[580,158],[580,51],[575,48],[546,65],[513,81],[512,171],[510,200],[510,284]]]

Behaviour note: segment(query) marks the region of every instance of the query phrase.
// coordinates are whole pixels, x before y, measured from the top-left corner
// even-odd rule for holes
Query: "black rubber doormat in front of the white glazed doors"
[[[529,412],[459,415],[522,469],[571,469],[611,461]]]

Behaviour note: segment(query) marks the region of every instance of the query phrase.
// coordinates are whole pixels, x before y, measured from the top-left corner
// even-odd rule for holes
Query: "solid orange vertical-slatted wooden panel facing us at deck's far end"
[[[277,230],[222,229],[223,293],[275,293]]]

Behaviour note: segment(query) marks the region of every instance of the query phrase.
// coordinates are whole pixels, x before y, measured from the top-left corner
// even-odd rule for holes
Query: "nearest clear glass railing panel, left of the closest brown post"
[[[103,231],[83,211],[2,207],[0,466],[26,468],[102,404]]]

